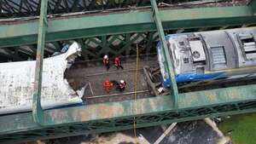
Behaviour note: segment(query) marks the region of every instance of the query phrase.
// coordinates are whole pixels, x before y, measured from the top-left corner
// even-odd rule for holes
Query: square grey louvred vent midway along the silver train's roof
[[[224,46],[212,47],[211,52],[213,65],[226,64],[227,61]]]

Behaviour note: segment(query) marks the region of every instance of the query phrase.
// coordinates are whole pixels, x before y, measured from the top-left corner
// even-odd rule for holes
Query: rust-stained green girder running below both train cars
[[[27,141],[67,135],[131,129],[170,124],[206,117],[256,112],[256,85],[212,89],[179,94],[179,108],[171,97],[159,96],[136,101],[119,101],[44,111],[44,122],[33,122],[32,112],[0,117],[0,142]],[[133,111],[134,105],[137,113]]]

